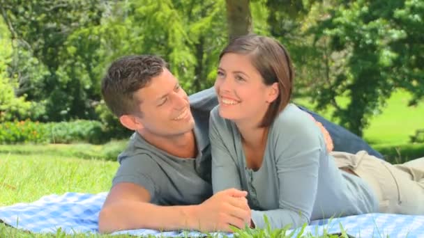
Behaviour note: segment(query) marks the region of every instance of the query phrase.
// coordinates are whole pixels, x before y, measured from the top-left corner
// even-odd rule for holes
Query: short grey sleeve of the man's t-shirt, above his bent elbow
[[[162,173],[159,166],[151,160],[148,154],[137,154],[121,159],[121,165],[112,180],[112,187],[121,182],[130,182],[144,187],[150,193],[151,200],[160,194],[160,189],[155,184],[154,175]],[[158,180],[156,180],[158,181]]]

